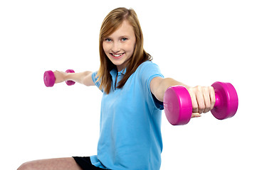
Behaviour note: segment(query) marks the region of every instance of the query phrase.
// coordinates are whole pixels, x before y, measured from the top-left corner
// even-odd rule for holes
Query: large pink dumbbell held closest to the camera
[[[219,120],[231,118],[238,108],[236,89],[230,83],[216,81],[211,86],[215,91],[212,115]],[[164,94],[164,111],[172,125],[186,125],[192,117],[192,99],[184,86],[170,86]]]

